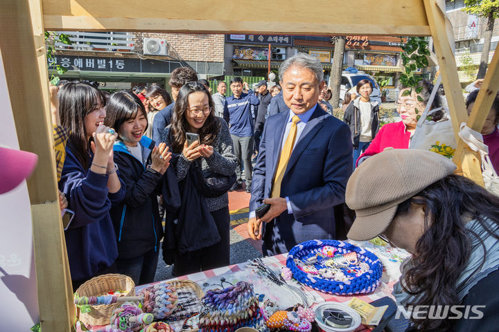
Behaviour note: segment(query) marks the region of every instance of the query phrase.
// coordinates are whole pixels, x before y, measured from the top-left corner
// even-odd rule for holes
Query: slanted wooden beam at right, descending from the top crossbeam
[[[446,31],[445,8],[439,8],[435,0],[423,0],[428,17],[428,24],[435,44],[437,61],[442,75],[442,83],[446,91],[446,99],[450,111],[450,120],[453,124],[455,140],[459,147],[459,125],[466,122],[468,113],[464,105],[461,84],[457,75],[457,66],[452,48]],[[471,149],[462,149],[462,153],[454,156],[459,171],[467,178],[483,185],[482,169],[480,160]]]

